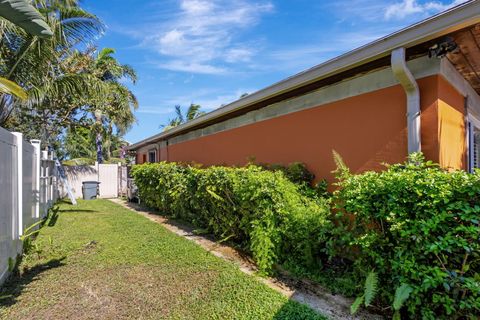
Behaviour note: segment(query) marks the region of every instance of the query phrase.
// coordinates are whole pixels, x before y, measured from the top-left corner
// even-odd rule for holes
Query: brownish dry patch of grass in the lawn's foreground
[[[154,266],[65,266],[42,274],[43,286],[32,283],[5,319],[164,318],[191,302],[192,295],[207,295],[216,276]]]

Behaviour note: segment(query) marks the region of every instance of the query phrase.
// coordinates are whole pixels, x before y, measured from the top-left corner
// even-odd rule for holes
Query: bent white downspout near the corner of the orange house
[[[405,48],[392,51],[392,70],[407,95],[408,153],[422,150],[420,141],[420,90],[405,62]]]

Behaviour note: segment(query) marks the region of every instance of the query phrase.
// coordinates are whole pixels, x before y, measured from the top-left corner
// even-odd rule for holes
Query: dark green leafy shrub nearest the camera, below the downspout
[[[349,253],[359,274],[375,270],[377,303],[392,306],[397,290],[395,310],[403,304],[409,318],[477,319],[479,173],[448,172],[414,154],[383,172],[351,175],[340,164],[337,174],[333,254]],[[400,299],[402,288],[409,294]]]

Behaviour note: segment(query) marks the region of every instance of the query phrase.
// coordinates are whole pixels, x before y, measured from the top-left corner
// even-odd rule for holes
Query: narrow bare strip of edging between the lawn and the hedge
[[[177,235],[194,241],[215,256],[235,263],[242,272],[256,276],[255,273],[258,269],[255,263],[238,250],[216,243],[206,237],[196,235],[192,228],[160,216],[155,212],[148,211],[138,204],[129,203],[121,199],[111,199],[111,201],[161,224]],[[306,279],[296,279],[291,277],[285,270],[280,270],[277,278],[256,277],[270,288],[282,293],[292,300],[308,305],[330,319],[383,319],[381,316],[370,314],[364,310],[360,311],[356,316],[352,316],[350,315],[350,305],[353,303],[353,299],[348,299],[340,295],[333,295],[316,283]]]

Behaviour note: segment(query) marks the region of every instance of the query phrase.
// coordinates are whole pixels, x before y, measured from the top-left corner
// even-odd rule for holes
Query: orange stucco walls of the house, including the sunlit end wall
[[[422,150],[427,159],[463,167],[463,97],[442,77],[418,80]],[[463,137],[463,138],[462,138]],[[462,140],[463,139],[463,140]],[[162,161],[204,165],[303,162],[333,180],[332,150],[353,172],[379,170],[407,156],[406,96],[398,85],[160,149]]]

